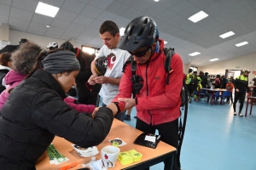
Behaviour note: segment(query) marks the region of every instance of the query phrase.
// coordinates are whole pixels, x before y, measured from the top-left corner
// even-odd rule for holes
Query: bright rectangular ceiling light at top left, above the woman
[[[47,3],[38,3],[38,7],[36,8],[36,13],[44,14],[49,17],[55,17],[60,8],[54,7]]]

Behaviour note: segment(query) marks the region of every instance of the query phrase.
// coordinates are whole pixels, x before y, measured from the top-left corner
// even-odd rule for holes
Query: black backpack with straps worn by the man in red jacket
[[[165,70],[167,73],[167,77],[166,77],[166,85],[169,85],[169,77],[172,73],[172,68],[171,68],[171,60],[172,60],[172,55],[174,54],[174,48],[164,48],[164,54],[166,55],[166,60],[165,60]],[[137,63],[133,60],[132,56],[128,59],[128,63],[131,62],[131,71],[132,71],[132,77],[131,79],[136,79],[136,71],[137,71]],[[125,62],[125,65],[127,63]],[[123,67],[123,72],[125,71],[125,65]],[[193,76],[193,80],[194,80],[194,75]],[[133,81],[134,82],[134,81]],[[132,93],[133,96],[135,97],[135,93]],[[186,94],[188,94],[188,90],[187,90],[187,85],[185,82],[185,79],[183,79],[183,87],[181,89],[181,93],[180,93],[180,97],[181,97],[181,107],[183,107],[184,105],[186,105]]]

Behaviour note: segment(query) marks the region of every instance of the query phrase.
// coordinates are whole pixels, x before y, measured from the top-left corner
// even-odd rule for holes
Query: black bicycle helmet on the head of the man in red
[[[132,20],[125,28],[118,48],[135,51],[138,48],[150,47],[159,38],[159,31],[153,19],[141,16]]]

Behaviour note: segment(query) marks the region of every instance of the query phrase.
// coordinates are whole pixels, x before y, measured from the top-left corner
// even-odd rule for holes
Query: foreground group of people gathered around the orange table
[[[49,42],[44,49],[22,39],[1,51],[0,169],[35,169],[55,135],[84,148],[100,144],[113,117],[131,120],[132,107],[137,129],[158,130],[162,141],[177,148],[181,98],[175,89],[182,88],[184,77],[179,54],[172,56],[172,73],[158,66],[166,58],[164,40],[148,16],[132,20],[123,37],[111,20],[99,33],[104,45],[96,57],[68,41]],[[179,166],[175,156],[172,169]]]

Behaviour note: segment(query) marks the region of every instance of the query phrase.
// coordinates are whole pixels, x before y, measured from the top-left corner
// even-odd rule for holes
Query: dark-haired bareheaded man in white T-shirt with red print
[[[91,62],[91,72],[92,76],[89,79],[90,85],[96,83],[102,84],[102,89],[100,95],[103,99],[103,105],[108,105],[111,103],[116,94],[119,94],[119,82],[123,75],[122,68],[125,61],[131,56],[127,51],[117,48],[119,43],[119,27],[111,20],[106,20],[102,23],[100,27],[100,35],[104,42],[104,45],[96,56],[105,56],[108,61],[108,69],[103,76],[98,76],[95,69],[95,61]],[[120,112],[114,116],[120,121],[124,122],[125,111]]]

